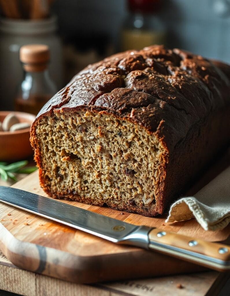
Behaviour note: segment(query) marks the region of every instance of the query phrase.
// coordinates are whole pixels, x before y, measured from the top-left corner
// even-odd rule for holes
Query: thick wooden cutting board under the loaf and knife
[[[39,186],[38,172],[13,187],[47,196]],[[228,243],[230,226],[221,231],[204,231],[194,219],[166,225],[165,216],[147,218],[79,202],[62,202],[136,225]],[[0,250],[15,266],[67,281],[90,283],[203,270],[156,252],[107,242],[3,203],[0,222]]]

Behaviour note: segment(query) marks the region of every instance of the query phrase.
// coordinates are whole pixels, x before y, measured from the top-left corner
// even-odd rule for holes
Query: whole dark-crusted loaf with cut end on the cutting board
[[[54,198],[162,214],[230,135],[230,66],[164,46],[115,54],[42,108],[30,141]]]

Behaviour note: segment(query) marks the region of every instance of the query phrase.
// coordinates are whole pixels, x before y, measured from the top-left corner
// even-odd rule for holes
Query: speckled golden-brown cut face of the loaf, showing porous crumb
[[[164,148],[138,124],[93,111],[54,112],[36,125],[40,180],[56,198],[153,216]]]

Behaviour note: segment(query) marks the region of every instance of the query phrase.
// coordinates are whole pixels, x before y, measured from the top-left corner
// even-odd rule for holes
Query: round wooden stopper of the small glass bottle
[[[49,47],[44,44],[28,44],[20,48],[20,61],[28,72],[44,71],[50,58]]]

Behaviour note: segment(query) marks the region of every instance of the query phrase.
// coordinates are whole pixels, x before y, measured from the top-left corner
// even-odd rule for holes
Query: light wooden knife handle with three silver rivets
[[[149,249],[162,252],[218,271],[230,270],[230,246],[185,235],[151,229]]]

